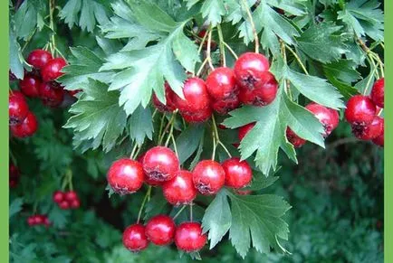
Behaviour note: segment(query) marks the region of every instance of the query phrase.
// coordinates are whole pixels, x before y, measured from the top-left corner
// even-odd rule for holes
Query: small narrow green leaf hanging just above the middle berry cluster
[[[129,136],[134,139],[139,146],[145,141],[145,137],[150,140],[153,137],[153,120],[151,119],[150,108],[139,106],[129,118]]]

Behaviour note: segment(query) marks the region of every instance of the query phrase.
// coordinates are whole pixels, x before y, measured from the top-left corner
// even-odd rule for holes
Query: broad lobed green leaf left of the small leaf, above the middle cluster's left
[[[126,124],[126,114],[119,107],[119,93],[108,92],[108,85],[96,80],[89,80],[83,91],[84,96],[72,105],[73,116],[64,127],[76,133],[76,146],[93,140],[91,148],[102,145],[104,151],[109,151]]]

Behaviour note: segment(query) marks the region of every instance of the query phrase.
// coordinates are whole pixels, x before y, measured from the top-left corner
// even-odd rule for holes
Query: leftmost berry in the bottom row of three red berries
[[[123,232],[123,245],[132,252],[139,252],[149,246],[145,235],[145,227],[141,224],[130,225]]]

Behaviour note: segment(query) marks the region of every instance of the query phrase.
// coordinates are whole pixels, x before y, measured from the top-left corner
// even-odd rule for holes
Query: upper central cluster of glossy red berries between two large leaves
[[[179,110],[187,122],[204,122],[214,109],[218,114],[226,114],[238,108],[241,103],[262,107],[276,97],[278,83],[269,72],[269,61],[264,55],[246,52],[235,61],[234,70],[220,67],[213,70],[206,81],[197,77],[185,81],[181,99],[165,84],[164,105],[156,95],[153,104],[160,111]]]

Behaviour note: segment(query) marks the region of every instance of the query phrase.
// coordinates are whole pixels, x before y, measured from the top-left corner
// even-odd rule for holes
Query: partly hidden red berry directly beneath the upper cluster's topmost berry
[[[254,83],[254,89],[240,89],[239,99],[243,104],[257,107],[266,106],[275,99],[278,83],[272,73],[261,73],[259,81]]]

